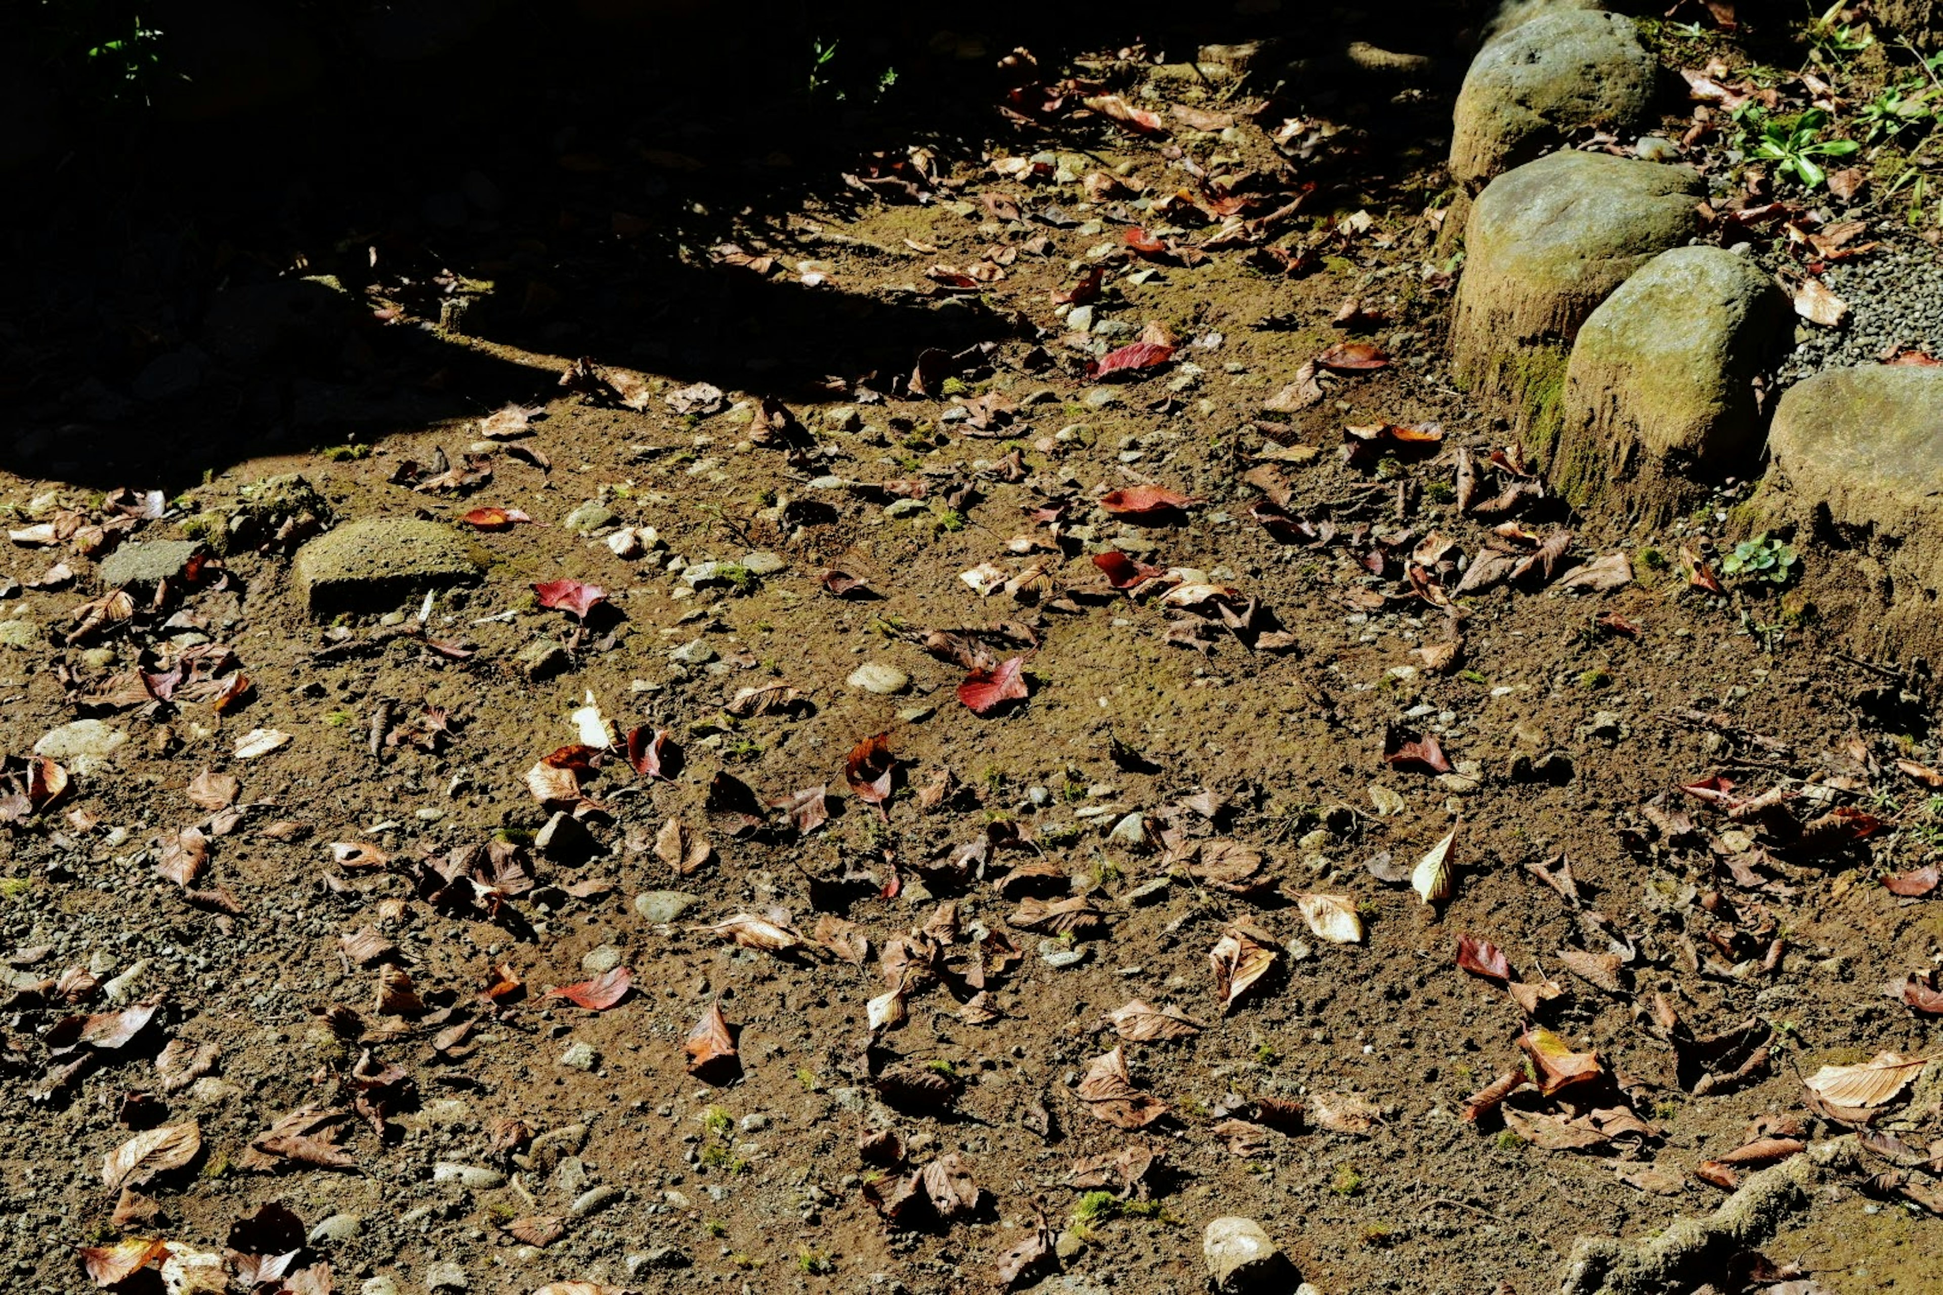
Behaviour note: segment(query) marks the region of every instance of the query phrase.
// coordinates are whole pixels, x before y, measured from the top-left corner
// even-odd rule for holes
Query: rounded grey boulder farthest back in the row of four
[[[1475,188],[1578,126],[1630,130],[1659,64],[1619,14],[1552,10],[1490,41],[1457,91],[1451,179]]]

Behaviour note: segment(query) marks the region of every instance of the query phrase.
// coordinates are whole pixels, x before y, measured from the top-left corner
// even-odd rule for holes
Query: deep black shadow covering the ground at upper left
[[[1368,134],[1360,169],[1333,177],[1354,208],[1407,169],[1399,155],[1436,153],[1492,6],[1001,4],[948,21],[882,4],[175,8],[155,25],[179,31],[194,80],[163,85],[155,113],[76,124],[12,177],[27,202],[0,227],[16,262],[0,468],[173,491],[243,456],[542,398],[558,381],[544,355],[785,400],[830,379],[888,390],[927,348],[1030,326],[938,293],[923,260],[903,262],[917,291],[886,299],[709,249],[789,221],[801,235],[806,210],[977,200],[925,181],[913,144],[946,175],[985,140],[1018,153],[1111,138],[1098,116],[1001,113],[1032,76],[997,66],[1012,47],[1043,76],[1108,50],[1088,76],[1113,87],[1135,72],[1117,49],[1191,62],[1205,43],[1267,39],[1251,95]],[[1370,78],[1354,41],[1436,64]],[[818,47],[835,52],[816,64]],[[375,318],[369,285],[410,322]],[[462,328],[488,346],[435,330],[449,295],[476,297]]]

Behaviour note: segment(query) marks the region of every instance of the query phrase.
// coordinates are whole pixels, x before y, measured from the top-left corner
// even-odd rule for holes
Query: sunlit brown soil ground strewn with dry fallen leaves
[[[332,351],[330,381],[457,396],[468,417],[330,447],[286,406],[301,452],[218,464],[105,542],[208,538],[192,518],[299,474],[340,518],[466,530],[474,588],[317,619],[291,581],[299,528],[76,633],[111,592],[85,526],[126,516],[99,489],[152,481],[93,481],[85,448],[68,480],[0,476],[16,528],[62,532],[6,553],[23,588],[0,615],[35,629],[0,648],[4,749],[25,757],[78,716],[128,738],[95,767],[68,761],[52,802],[47,771],[16,761],[0,837],[16,1289],[87,1289],[76,1246],[122,1239],[255,1254],[268,1243],[231,1225],[278,1202],[303,1229],[338,1219],[301,1260],[328,1262],[338,1289],[416,1291],[457,1264],[474,1291],[948,1291],[993,1281],[1043,1225],[1059,1254],[1018,1285],[1181,1291],[1205,1281],[1201,1227],[1240,1213],[1321,1291],[1543,1291],[1582,1235],[1716,1208],[1723,1188],[1696,1169],[1755,1138],[1937,1132],[1933,1072],[1881,1111],[1815,1107],[1803,1087],[1937,1048],[1900,986],[1937,965],[1943,918],[1933,895],[1883,883],[1918,874],[1902,885],[1918,891],[1943,831],[1927,678],[1850,656],[1782,590],[1696,582],[1720,567],[1706,538],[1741,538],[1745,487],[1667,536],[1607,532],[1521,487],[1516,447],[1444,381],[1459,266],[1426,210],[1434,134],[1333,144],[1139,56],[1106,54],[1074,72],[1098,85],[1065,93],[1127,95],[1164,130],[1096,113],[1059,118],[1049,163],[1016,124],[859,163],[874,192],[750,212],[717,250],[688,249],[723,293],[742,291],[731,276],[764,283],[750,315],[663,315],[612,348],[550,303],[628,264],[612,254],[637,219],[628,194],[666,194],[686,163],[577,144],[552,229],[482,235],[505,254],[470,280],[427,285],[426,252],[392,270],[389,250],[369,291],[346,280],[381,315]],[[1012,103],[1061,76],[1020,74]],[[1440,103],[1397,111],[1434,122]],[[521,262],[523,239],[544,250]],[[1094,332],[1172,348],[1158,365],[1086,379],[1092,342],[1053,303],[1088,268]],[[385,340],[484,278],[474,336]],[[616,311],[653,313],[641,282],[614,274]],[[799,309],[855,320],[894,363],[812,390],[783,324]],[[905,330],[952,346],[919,355]],[[734,381],[690,355],[738,338]],[[1345,344],[1387,363],[1315,367]],[[595,377],[562,388],[583,353]],[[733,408],[670,406],[698,379]],[[505,400],[534,410],[527,433],[474,450]],[[486,458],[466,470],[468,452]],[[439,454],[459,466],[443,483]],[[1104,507],[1146,487],[1187,503]],[[589,499],[659,548],[620,557],[612,532],[569,530]],[[532,522],[470,528],[482,507]],[[1459,590],[1494,549],[1535,561]],[[1152,571],[1117,590],[1131,567],[1102,551]],[[769,553],[781,569],[760,575],[750,555]],[[1568,575],[1615,553],[1630,569],[1615,588]],[[674,555],[727,569],[692,586]],[[72,575],[47,579],[54,563]],[[826,573],[874,596],[837,596]],[[563,579],[604,590],[585,625],[534,592]],[[556,674],[519,666],[534,641],[562,647]],[[235,666],[198,687],[210,643]],[[1028,695],[977,714],[968,666],[1014,656]],[[865,664],[907,687],[851,685]],[[787,705],[746,691],[783,685]],[[674,775],[643,777],[624,749],[560,753],[600,736],[573,718],[589,705],[622,747],[665,730]],[[243,757],[255,730],[288,744]],[[847,779],[874,734],[896,761],[882,812],[880,759],[865,798]],[[534,769],[554,769],[552,804]],[[828,808],[801,788],[828,788]],[[558,823],[536,841],[573,794],[589,847]],[[707,843],[703,864],[670,864],[668,823]],[[1448,833],[1448,897],[1426,903],[1413,868]],[[696,903],[655,924],[633,903],[649,891]],[[1315,930],[1313,895],[1343,897],[1362,938]],[[746,940],[787,947],[736,944],[738,914],[783,928],[744,924]],[[869,953],[851,961],[857,936]],[[1504,975],[1459,969],[1463,938],[1502,951],[1529,1012]],[[1234,1004],[1210,967],[1222,947],[1275,953]],[[604,1010],[550,994],[608,967],[631,988]],[[902,1019],[872,1029],[886,992]],[[1123,1039],[1109,1013],[1131,1000],[1199,1029]],[[738,1056],[696,1074],[684,1043],[717,1006]],[[1133,1091],[1100,1078],[1115,1046]],[[1502,1109],[1473,1099],[1523,1078],[1527,1052],[1537,1083]],[[317,1114],[266,1138],[299,1111]],[[105,1175],[142,1130],[188,1122],[185,1163]],[[1088,1171],[1129,1147],[1133,1182]],[[975,1192],[935,1171],[903,1200],[905,1175],[944,1157]],[[1856,1182],[1762,1250],[1832,1291],[1933,1289],[1926,1182]],[[175,1264],[126,1289],[194,1289]],[[1743,1278],[1692,1285],[1760,1287]]]

